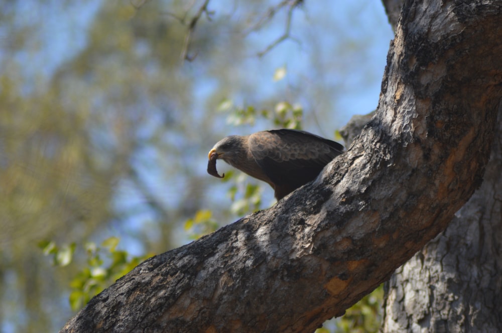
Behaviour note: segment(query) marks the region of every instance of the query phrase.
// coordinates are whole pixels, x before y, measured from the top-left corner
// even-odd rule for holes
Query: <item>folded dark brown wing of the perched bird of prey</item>
[[[298,130],[273,130],[249,136],[249,150],[277,186],[290,191],[313,180],[334,157],[343,152],[337,142]]]

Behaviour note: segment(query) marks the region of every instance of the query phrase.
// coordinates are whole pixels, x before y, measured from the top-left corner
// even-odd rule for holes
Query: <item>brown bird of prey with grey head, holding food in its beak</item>
[[[230,135],[214,145],[208,154],[207,172],[216,171],[222,159],[249,176],[267,182],[277,200],[314,180],[326,164],[343,152],[337,142],[299,130],[262,131],[251,135]]]

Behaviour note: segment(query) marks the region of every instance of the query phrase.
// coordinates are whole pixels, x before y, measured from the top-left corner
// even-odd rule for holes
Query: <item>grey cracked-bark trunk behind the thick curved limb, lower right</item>
[[[481,188],[391,277],[384,332],[502,332],[501,116]]]

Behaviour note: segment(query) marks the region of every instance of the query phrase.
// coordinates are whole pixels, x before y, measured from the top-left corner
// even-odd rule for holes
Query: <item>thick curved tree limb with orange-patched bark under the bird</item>
[[[407,2],[378,110],[346,153],[272,208],[140,264],[62,332],[309,332],[343,314],[480,185],[499,17],[486,1]]]

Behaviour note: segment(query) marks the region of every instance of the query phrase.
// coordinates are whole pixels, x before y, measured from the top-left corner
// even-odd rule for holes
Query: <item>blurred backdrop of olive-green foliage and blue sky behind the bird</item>
[[[161,253],[190,240],[183,227],[201,207],[221,224],[244,215],[247,181],[208,177],[207,150],[272,125],[226,124],[216,110],[232,104],[222,101],[258,115],[300,104],[304,128],[326,137],[374,108],[392,38],[380,4],[297,6],[290,39],[257,57],[284,33],[289,7],[271,16],[272,2],[213,2],[191,40],[194,61],[182,62],[202,3],[0,2],[0,330],[64,324],[87,241],[117,236],[131,255]],[[274,82],[278,68],[287,75]],[[260,193],[252,209],[273,202]],[[54,241],[66,266],[51,267],[40,241]]]

